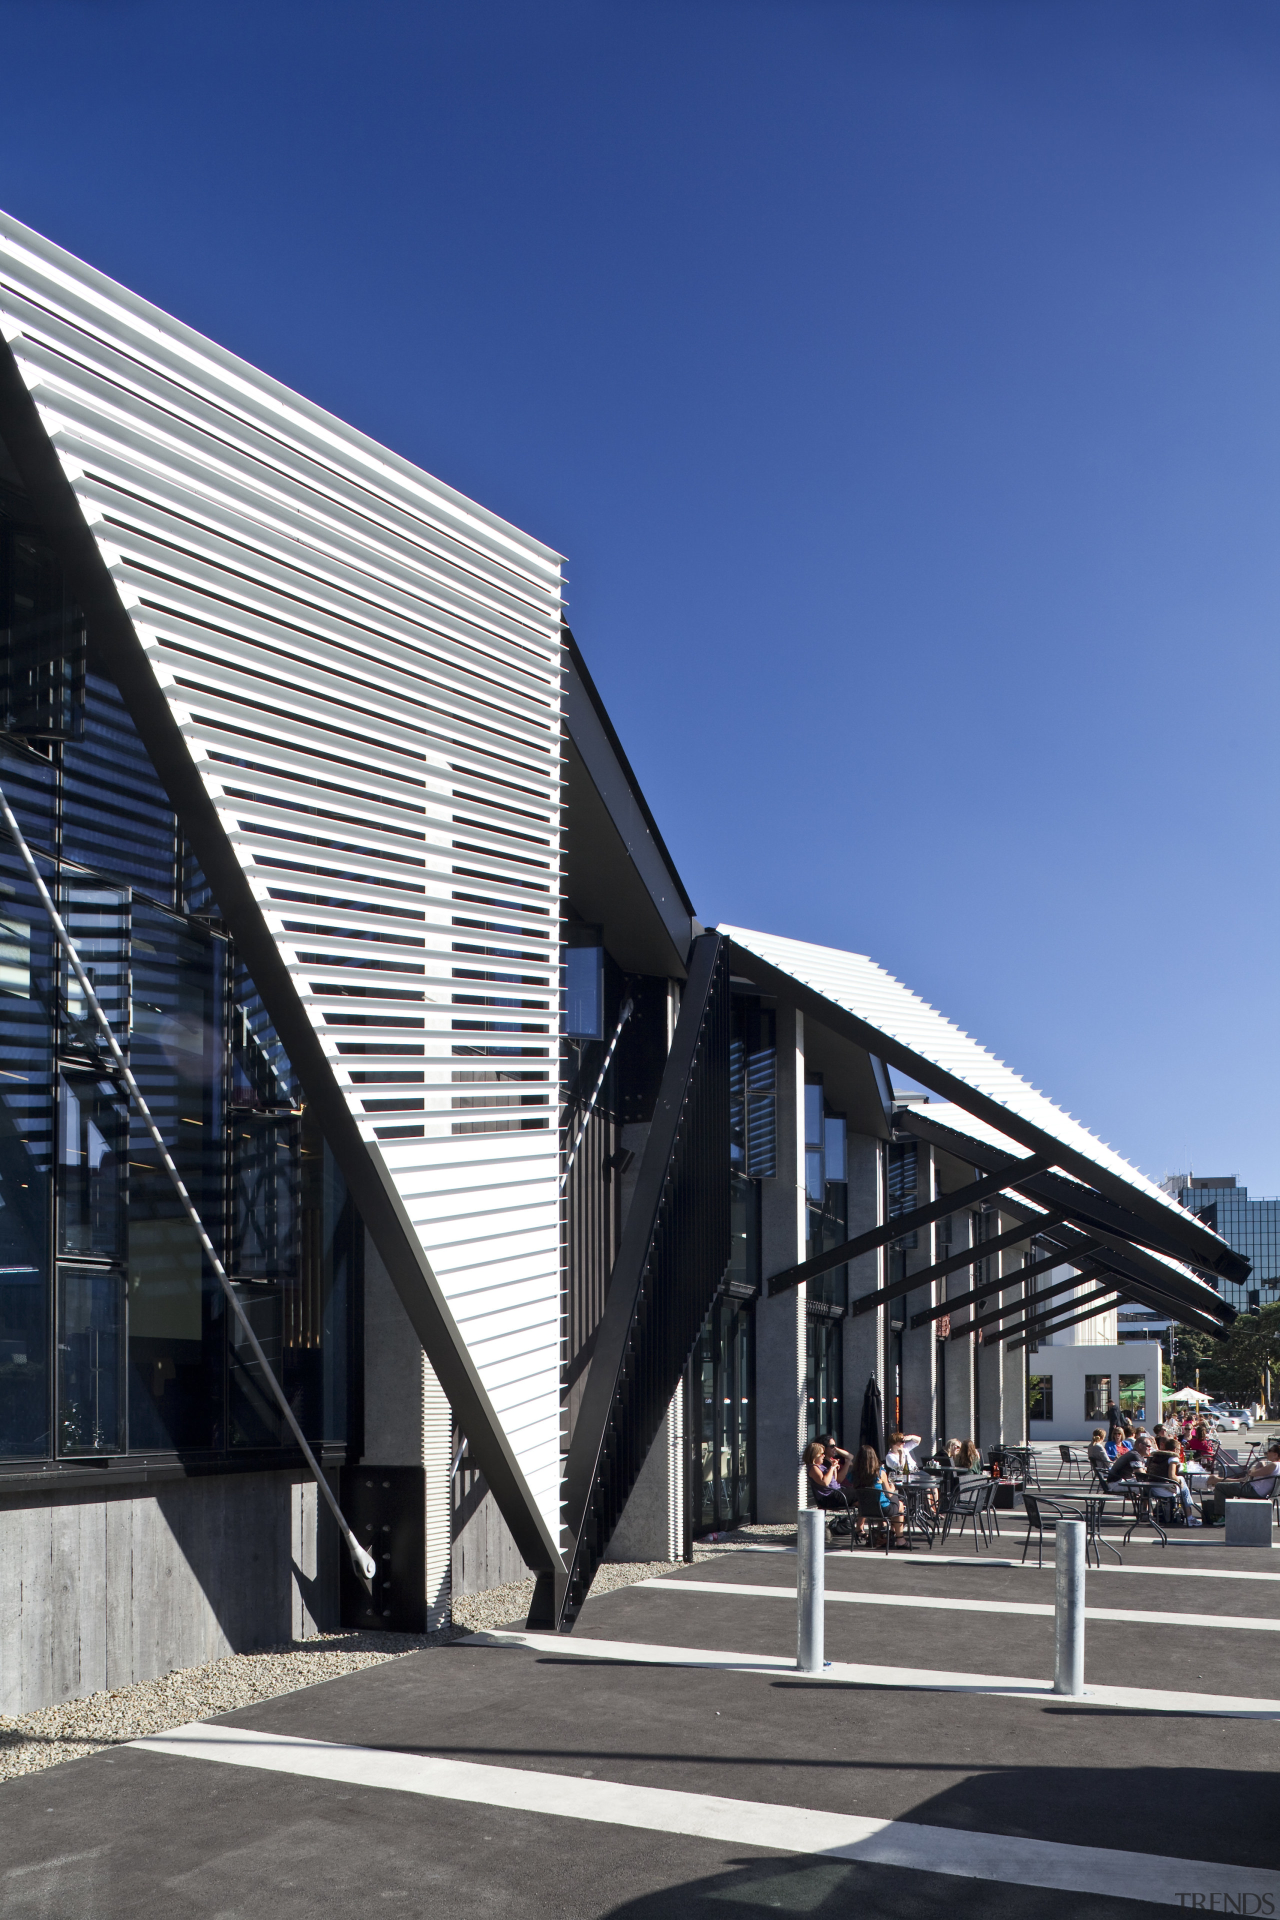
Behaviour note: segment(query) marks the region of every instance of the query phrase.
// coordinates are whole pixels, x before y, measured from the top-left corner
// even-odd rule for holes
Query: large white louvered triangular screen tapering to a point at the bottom
[[[560,559],[4,217],[0,324],[558,1536]]]

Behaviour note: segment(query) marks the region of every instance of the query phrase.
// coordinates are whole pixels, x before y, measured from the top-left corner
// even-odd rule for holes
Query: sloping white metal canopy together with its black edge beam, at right
[[[798,987],[802,996],[808,993],[825,1002],[837,1029],[850,1033],[889,1066],[910,1073],[921,1087],[986,1121],[1006,1140],[1032,1154],[1048,1154],[1063,1173],[1086,1181],[1148,1223],[1161,1244],[1173,1242],[1188,1260],[1232,1279],[1245,1265],[1226,1240],[1178,1206],[1155,1181],[875,960],[748,927],[722,925],[720,933],[733,941],[745,972],[760,979],[760,985],[768,987],[760,975],[764,966]],[[818,1008],[814,1012],[821,1018]]]

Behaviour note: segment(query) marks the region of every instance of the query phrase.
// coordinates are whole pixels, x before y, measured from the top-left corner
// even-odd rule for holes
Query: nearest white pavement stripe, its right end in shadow
[[[1052,1887],[1059,1893],[1096,1893],[1111,1899],[1155,1901],[1180,1907],[1188,1889],[1228,1887],[1234,1897],[1280,1893],[1280,1874],[1221,1862],[1163,1859],[1153,1853],[1121,1853],[1111,1847],[1071,1847],[1048,1839],[1015,1839],[1006,1834],[973,1834],[950,1826],[915,1826],[912,1820],[873,1820],[814,1807],[777,1807],[771,1801],[723,1799],[716,1793],[681,1793],[674,1788],[626,1786],[616,1780],[583,1780],[578,1774],[541,1774],[522,1766],[486,1766],[430,1755],[388,1753],[378,1747],[345,1747],[292,1734],[259,1734],[223,1724],[178,1726],[150,1734],[130,1745],[142,1753],[184,1761],[221,1761],[305,1780],[338,1780],[344,1786],[420,1793],[639,1828],[649,1834],[681,1834],[729,1847],[764,1853],[821,1855],[833,1860],[917,1868],[961,1880],[998,1880],[1006,1885]]]

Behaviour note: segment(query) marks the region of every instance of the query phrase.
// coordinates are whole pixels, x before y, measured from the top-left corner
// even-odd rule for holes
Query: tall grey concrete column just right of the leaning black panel
[[[760,1271],[804,1260],[804,1016],[777,1008],[777,1177],[760,1183]],[[804,1503],[804,1286],[756,1302],[756,1519]]]

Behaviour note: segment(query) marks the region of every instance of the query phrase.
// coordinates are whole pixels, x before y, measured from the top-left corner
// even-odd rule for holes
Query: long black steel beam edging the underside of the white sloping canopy
[[[764,993],[781,995],[783,1000],[798,1006],[802,1014],[812,1016],[819,1027],[854,1041],[856,1046],[885,1060],[890,1068],[910,1073],[929,1092],[936,1092],[942,1100],[954,1100],[961,1112],[973,1114],[975,1119],[984,1119],[1007,1140],[1017,1140],[1036,1160],[1042,1158],[1050,1167],[1063,1167],[1073,1181],[1086,1183],[1107,1208],[1113,1208],[1130,1221],[1125,1229],[1126,1238],[1159,1246],[1161,1252],[1171,1254],[1174,1260],[1190,1260],[1194,1265],[1209,1267],[1209,1271],[1222,1273],[1230,1281],[1247,1277],[1247,1260],[1236,1254],[1217,1233],[1211,1233],[1194,1213],[1180,1217],[1182,1208],[1165,1206],[1163,1200],[1144,1194],[1090,1154],[1073,1148],[1044,1127],[1036,1127],[1034,1121],[1015,1114],[1004,1102],[992,1100],[990,1094],[979,1092],[956,1073],[948,1073],[936,1060],[917,1054],[915,1048],[875,1027],[869,1020],[862,1020],[848,1008],[839,1006],[839,1002],[818,993],[818,989],[806,987],[794,973],[771,966],[760,954],[754,954],[750,947],[735,945],[733,956],[735,970],[762,987]],[[921,1110],[912,1108],[912,1114],[917,1112]],[[894,1116],[896,1121],[898,1116]],[[960,1158],[969,1160],[971,1156],[969,1152],[961,1152]],[[1071,1181],[1063,1185],[1071,1185]],[[1061,1204],[1057,1194],[1052,1196],[1052,1204]]]

